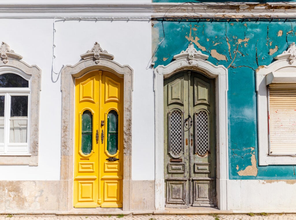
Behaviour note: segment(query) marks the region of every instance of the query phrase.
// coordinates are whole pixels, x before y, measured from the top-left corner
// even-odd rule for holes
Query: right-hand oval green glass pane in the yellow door
[[[107,150],[111,155],[118,150],[118,114],[114,110],[107,117]]]

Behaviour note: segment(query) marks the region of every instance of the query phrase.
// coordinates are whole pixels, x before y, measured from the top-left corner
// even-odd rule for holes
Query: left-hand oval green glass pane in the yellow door
[[[86,110],[82,114],[81,151],[90,154],[92,150],[92,114]]]

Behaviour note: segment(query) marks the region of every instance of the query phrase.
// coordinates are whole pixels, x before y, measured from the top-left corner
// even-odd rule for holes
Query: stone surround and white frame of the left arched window
[[[0,95],[28,95],[27,151],[19,151],[15,153],[3,153],[2,151],[0,154],[0,165],[21,164],[37,166],[39,149],[39,105],[41,91],[41,69],[36,65],[30,66],[27,63],[21,61],[21,59],[22,56],[11,50],[9,48],[9,45],[2,42],[2,44],[0,45],[0,74],[17,74],[29,81],[29,88],[0,88]],[[6,117],[6,120],[9,120],[9,118]],[[16,143],[16,145],[20,144]]]

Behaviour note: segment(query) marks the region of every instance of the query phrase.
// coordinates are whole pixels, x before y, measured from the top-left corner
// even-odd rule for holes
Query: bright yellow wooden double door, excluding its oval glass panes
[[[123,78],[107,71],[91,71],[75,80],[74,207],[122,207],[123,179]],[[93,148],[81,151],[81,118],[85,110],[93,115]],[[118,151],[107,151],[107,115],[118,113]],[[104,125],[101,126],[101,121]],[[96,131],[98,130],[98,143]],[[102,144],[101,133],[104,131]],[[109,162],[106,159],[119,160]]]

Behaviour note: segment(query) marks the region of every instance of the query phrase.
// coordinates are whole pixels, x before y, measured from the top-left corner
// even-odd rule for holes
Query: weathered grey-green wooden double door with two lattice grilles
[[[184,71],[163,84],[166,207],[216,206],[215,80]]]

